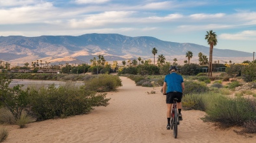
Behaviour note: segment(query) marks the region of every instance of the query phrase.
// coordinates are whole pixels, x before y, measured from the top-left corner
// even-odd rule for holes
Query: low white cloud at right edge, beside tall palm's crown
[[[230,40],[252,40],[256,39],[256,30],[244,30],[236,34],[220,34],[218,36],[220,39],[230,39]]]

